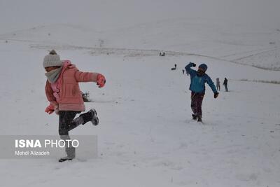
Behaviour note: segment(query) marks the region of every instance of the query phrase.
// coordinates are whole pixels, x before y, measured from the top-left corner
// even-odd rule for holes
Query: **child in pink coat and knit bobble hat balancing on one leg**
[[[45,68],[45,95],[50,105],[45,112],[51,114],[53,112],[59,115],[59,135],[61,139],[70,139],[69,131],[85,124],[89,121],[93,125],[98,125],[99,119],[97,112],[90,109],[86,113],[82,113],[75,118],[77,113],[85,111],[82,92],[80,92],[79,82],[94,82],[99,88],[102,88],[106,79],[102,74],[79,71],[69,60],[60,60],[55,50],[45,55],[43,60]],[[75,148],[66,147],[66,157],[60,158],[59,162],[72,160],[75,158]]]

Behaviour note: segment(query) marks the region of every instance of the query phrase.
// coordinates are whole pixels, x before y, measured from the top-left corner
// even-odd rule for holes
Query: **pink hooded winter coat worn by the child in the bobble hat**
[[[63,63],[62,71],[55,83],[45,83],[45,95],[51,106],[59,111],[85,111],[79,82],[97,82],[97,73],[79,71],[69,60]]]

